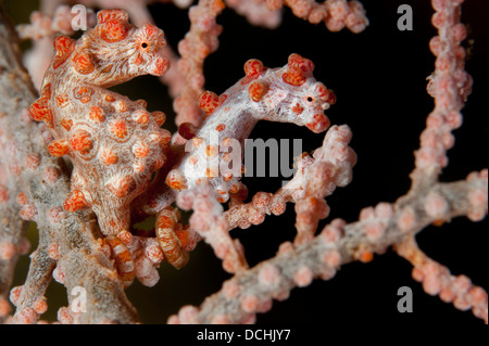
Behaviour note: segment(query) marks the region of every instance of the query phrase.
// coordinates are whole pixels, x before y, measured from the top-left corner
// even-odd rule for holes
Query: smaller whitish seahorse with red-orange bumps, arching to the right
[[[181,191],[206,180],[224,203],[229,192],[238,191],[241,176],[241,171],[227,169],[228,163],[241,163],[242,157],[231,157],[234,150],[228,148],[243,149],[259,120],[293,123],[316,133],[326,130],[330,123],[323,112],[336,98],[314,79],[313,69],[314,64],[299,54],[291,54],[286,66],[273,69],[250,60],[244,64],[246,76],[222,95],[205,91],[199,100],[205,120],[197,133],[191,124],[180,125],[180,136],[190,140],[186,145],[189,153],[168,172],[166,183]]]

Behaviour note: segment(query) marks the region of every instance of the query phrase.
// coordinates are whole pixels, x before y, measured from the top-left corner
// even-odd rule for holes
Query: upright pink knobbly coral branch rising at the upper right
[[[430,40],[429,48],[437,59],[427,90],[435,99],[435,110],[426,119],[421,148],[415,153],[413,183],[418,183],[419,177],[428,177],[425,179],[428,184],[434,182],[448,165],[446,152],[455,142],[451,131],[462,125],[460,112],[472,91],[472,77],[464,71],[465,50],[460,44],[467,36],[467,29],[460,23],[461,2],[432,1],[437,12],[431,23],[438,36]]]

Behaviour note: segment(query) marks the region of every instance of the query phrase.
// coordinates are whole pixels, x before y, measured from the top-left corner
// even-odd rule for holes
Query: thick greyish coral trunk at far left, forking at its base
[[[62,159],[53,158],[47,152],[47,141],[52,137],[46,127],[25,116],[29,104],[36,98],[35,91],[20,63],[18,49],[15,40],[12,40],[15,34],[3,13],[0,14],[2,75],[8,76],[0,80],[2,95],[5,95],[1,99],[5,115],[0,121],[3,136],[10,137],[9,140],[15,149],[11,159],[16,161],[16,166],[10,166],[9,176],[17,179],[18,188],[25,195],[17,198],[17,202],[24,204],[25,212],[21,213],[21,216],[35,220],[39,230],[39,248],[33,257],[26,283],[22,289],[13,291],[17,306],[13,321],[36,322],[45,311],[41,302],[45,299],[45,290],[55,265],[61,277],[64,275],[68,292],[75,286],[85,287],[89,292],[88,313],[78,316],[77,321],[136,322],[136,312],[124,294],[117,274],[96,241],[98,228],[93,214],[63,212],[61,203],[70,191],[66,167]],[[37,159],[33,161],[33,157]],[[22,232],[22,227],[15,231]],[[47,248],[54,243],[59,247],[58,262],[47,255]]]

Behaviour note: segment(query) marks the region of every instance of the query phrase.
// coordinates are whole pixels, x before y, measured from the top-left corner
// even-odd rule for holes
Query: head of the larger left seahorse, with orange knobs
[[[156,26],[137,28],[125,11],[102,10],[97,26],[78,41],[64,36],[55,40],[52,67],[65,66],[80,82],[106,88],[141,75],[163,75],[170,67],[162,53],[165,44]]]

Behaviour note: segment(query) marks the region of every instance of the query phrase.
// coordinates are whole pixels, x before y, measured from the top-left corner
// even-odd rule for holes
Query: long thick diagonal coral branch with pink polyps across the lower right
[[[485,170],[477,177],[472,175],[465,181],[437,183],[409,202],[401,198],[393,204],[391,213],[378,213],[373,218],[348,225],[339,219],[334,220],[310,242],[298,246],[283,244],[277,256],[236,274],[199,308],[183,307],[178,316],[172,316],[168,322],[252,322],[256,312],[267,311],[272,299],[287,298],[291,289],[306,286],[314,278],[329,280],[340,266],[353,260],[368,261],[373,253],[384,253],[389,246],[411,238],[440,217],[449,220],[469,214],[474,207],[471,191],[487,193],[487,189]],[[442,215],[432,215],[424,207],[429,204],[434,193],[448,205]],[[378,209],[385,209],[385,206]],[[369,231],[373,222],[383,225],[381,236]],[[477,300],[476,310],[480,315],[479,306],[484,306],[484,299]],[[485,312],[482,318],[487,320],[487,309]]]

